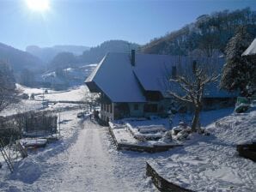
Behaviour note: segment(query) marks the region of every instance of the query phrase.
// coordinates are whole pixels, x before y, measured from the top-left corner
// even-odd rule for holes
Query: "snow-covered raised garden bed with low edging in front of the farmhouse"
[[[164,119],[162,119],[164,121]],[[133,124],[136,123],[133,121]],[[142,124],[142,121],[139,121]],[[146,121],[145,123],[149,123]],[[110,133],[118,149],[139,152],[162,152],[180,146],[180,143],[168,139],[167,129],[162,124],[140,125],[132,127],[130,123],[109,123]]]

